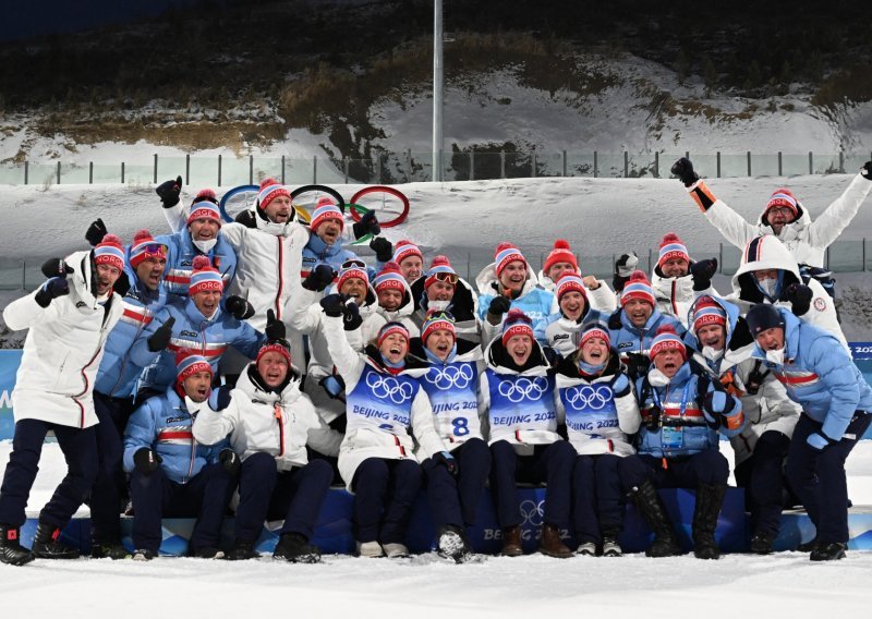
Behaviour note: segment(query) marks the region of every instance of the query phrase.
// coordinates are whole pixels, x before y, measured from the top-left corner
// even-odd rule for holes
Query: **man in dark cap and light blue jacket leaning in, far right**
[[[872,423],[872,388],[839,340],[784,307],[754,305],[747,316],[756,345],[787,395],[802,405],[787,452],[787,480],[818,529],[812,561],[845,557],[845,461]]]

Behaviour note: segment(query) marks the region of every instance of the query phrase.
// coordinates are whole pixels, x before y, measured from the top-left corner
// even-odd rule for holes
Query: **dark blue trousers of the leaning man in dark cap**
[[[818,541],[848,541],[848,481],[845,461],[872,423],[872,414],[857,413],[846,436],[823,451],[806,439],[821,432],[822,424],[803,414],[799,417],[787,452],[787,481],[799,496],[806,511],[818,529]],[[849,438],[847,435],[851,435]]]

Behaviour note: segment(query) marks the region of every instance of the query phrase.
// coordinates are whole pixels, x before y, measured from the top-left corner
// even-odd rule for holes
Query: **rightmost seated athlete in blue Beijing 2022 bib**
[[[557,418],[566,424],[578,457],[572,470],[577,553],[620,557],[623,530],[623,459],[635,449],[629,436],[642,423],[626,367],[608,331],[589,325],[578,352],[557,366]]]

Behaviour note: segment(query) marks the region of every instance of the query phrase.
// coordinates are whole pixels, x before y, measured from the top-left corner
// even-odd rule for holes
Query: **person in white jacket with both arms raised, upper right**
[[[867,161],[845,192],[812,221],[808,210],[790,190],[777,189],[766,202],[756,224],[749,223],[723,201],[717,199],[685,157],[673,166],[673,173],[685,183],[690,196],[724,238],[744,248],[751,239],[773,234],[801,265],[823,267],[828,247],[857,215],[872,190],[872,161]]]

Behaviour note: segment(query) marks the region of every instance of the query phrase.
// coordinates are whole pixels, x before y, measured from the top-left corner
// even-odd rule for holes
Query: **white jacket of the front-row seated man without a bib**
[[[254,364],[240,375],[227,409],[199,410],[193,427],[197,442],[215,445],[230,435],[230,447],[243,461],[254,453],[269,453],[279,471],[305,466],[306,445],[337,456],[342,435],[322,422],[312,402],[300,391],[299,372],[292,369],[291,381],[281,393],[275,393],[252,378],[253,368]]]

